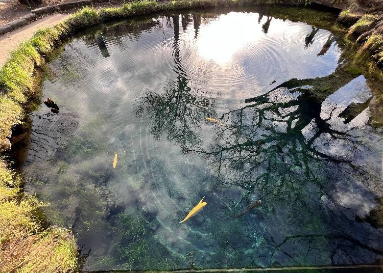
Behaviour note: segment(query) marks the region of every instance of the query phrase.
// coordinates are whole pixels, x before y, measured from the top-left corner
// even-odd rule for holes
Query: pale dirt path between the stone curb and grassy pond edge
[[[38,19],[21,29],[0,36],[0,67],[4,65],[9,57],[9,53],[13,51],[22,41],[28,40],[32,35],[41,28],[53,26],[60,21],[69,17],[70,14],[53,14],[44,18]]]

